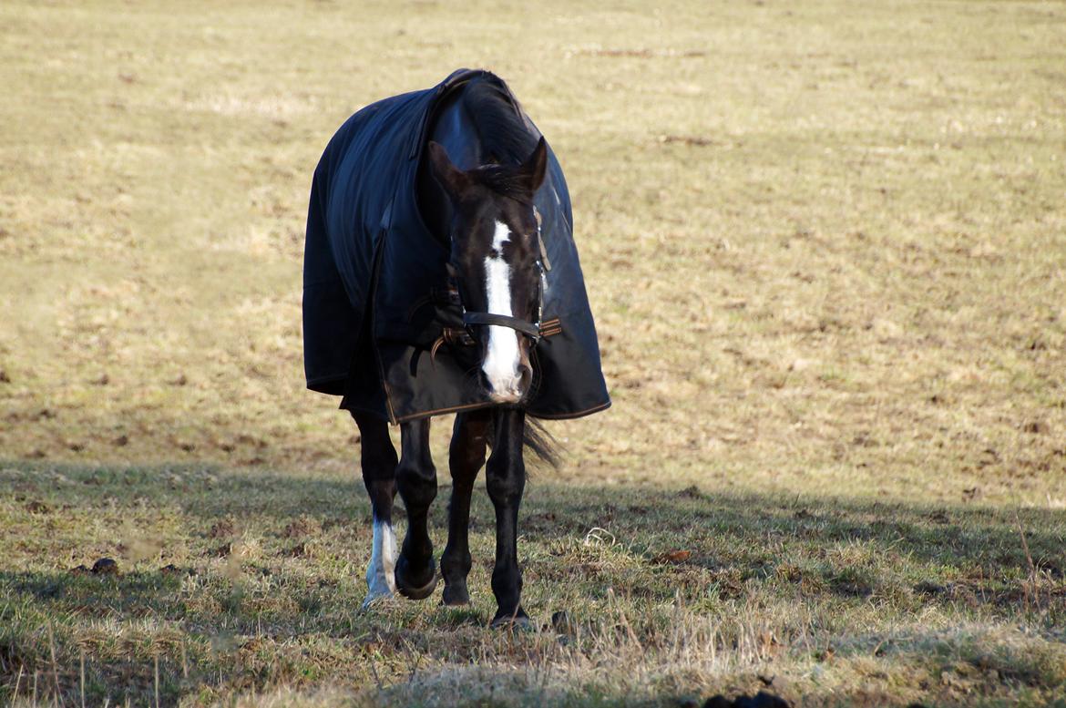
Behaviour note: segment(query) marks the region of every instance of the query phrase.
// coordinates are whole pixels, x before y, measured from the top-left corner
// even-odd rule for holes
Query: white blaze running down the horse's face
[[[503,260],[503,244],[511,237],[511,229],[503,222],[496,222],[492,235],[491,254],[485,258],[485,291],[488,295],[488,311],[492,315],[512,316],[511,311],[511,267]],[[482,365],[485,376],[492,388],[494,398],[505,401],[518,400],[518,333],[511,327],[489,325],[488,354]]]

